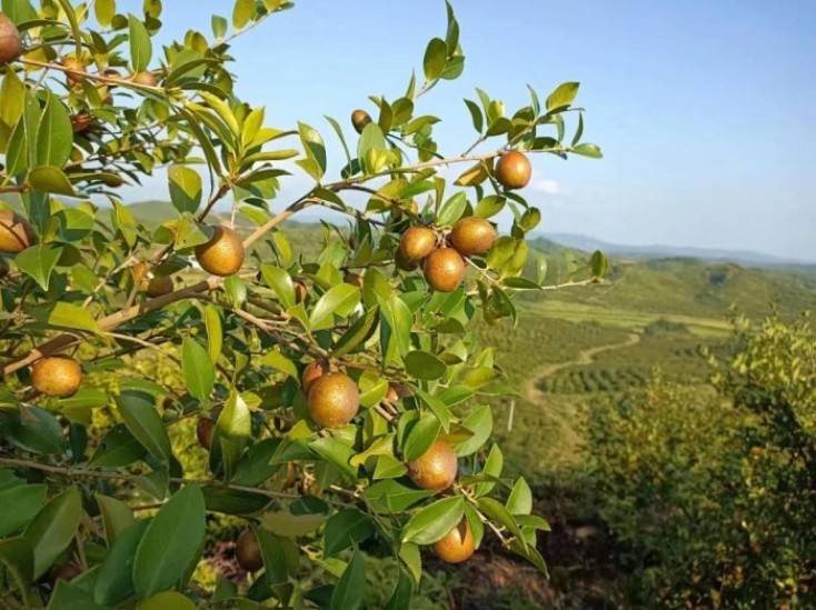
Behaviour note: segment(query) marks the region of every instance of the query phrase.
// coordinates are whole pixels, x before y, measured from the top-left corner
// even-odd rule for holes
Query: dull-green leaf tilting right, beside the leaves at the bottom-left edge
[[[34,579],[44,574],[71,543],[81,514],[82,498],[72,487],[51,498],[26,528],[23,537],[34,553]]]

